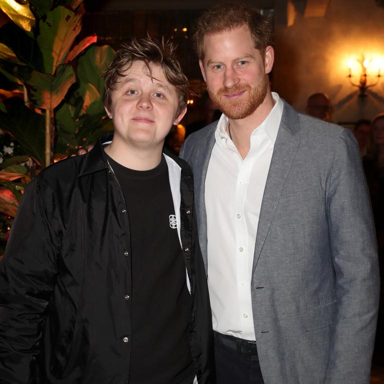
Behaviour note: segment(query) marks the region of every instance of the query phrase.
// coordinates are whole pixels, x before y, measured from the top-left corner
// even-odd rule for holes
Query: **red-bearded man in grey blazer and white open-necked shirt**
[[[270,91],[268,19],[219,4],[197,20],[223,114],[186,139],[215,334],[217,382],[369,382],[378,303],[358,146]]]

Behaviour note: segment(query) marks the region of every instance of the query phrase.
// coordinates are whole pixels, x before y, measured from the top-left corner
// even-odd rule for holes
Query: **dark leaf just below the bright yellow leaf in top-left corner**
[[[43,70],[42,54],[36,42],[13,22],[0,27],[0,43],[6,45],[24,64]]]

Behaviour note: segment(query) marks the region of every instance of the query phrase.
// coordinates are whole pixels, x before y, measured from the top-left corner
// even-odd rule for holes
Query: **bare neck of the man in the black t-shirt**
[[[134,170],[155,168],[161,161],[162,146],[141,148],[113,140],[104,148],[105,153],[119,164]]]

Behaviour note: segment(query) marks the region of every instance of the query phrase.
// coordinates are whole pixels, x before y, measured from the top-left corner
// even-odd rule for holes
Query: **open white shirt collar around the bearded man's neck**
[[[272,109],[269,111],[264,121],[253,129],[251,135],[255,134],[257,129],[264,130],[269,139],[274,143],[276,141],[277,131],[280,125],[284,104],[276,92],[272,92],[272,98],[274,101]],[[218,120],[215,131],[216,142],[218,142],[220,145],[224,144],[224,142],[224,145],[229,145],[227,141],[229,139],[229,136],[226,133],[227,123],[228,117],[226,117],[225,114],[222,113]]]

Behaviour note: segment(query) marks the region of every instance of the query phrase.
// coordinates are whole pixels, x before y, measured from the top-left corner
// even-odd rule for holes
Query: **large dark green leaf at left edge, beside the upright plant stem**
[[[0,110],[0,128],[15,137],[28,156],[44,164],[43,115],[30,110],[22,100],[14,100],[6,113]]]

